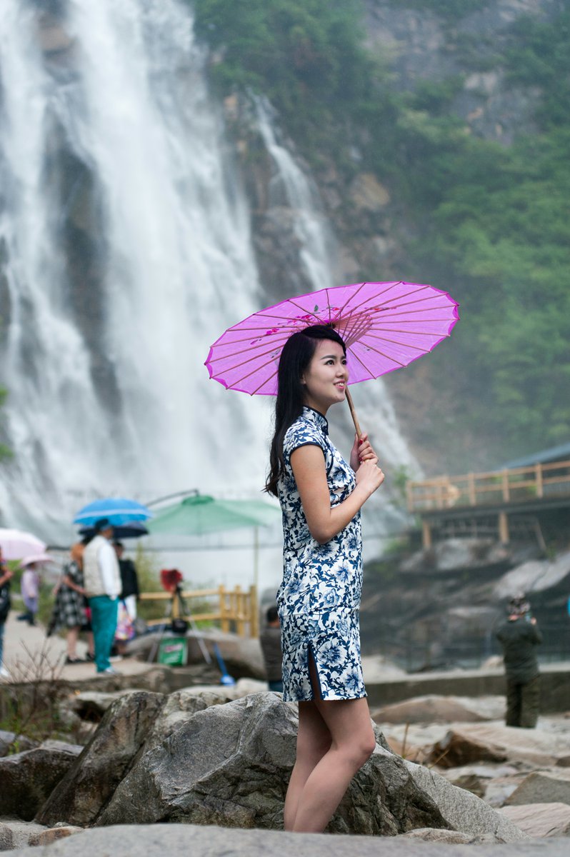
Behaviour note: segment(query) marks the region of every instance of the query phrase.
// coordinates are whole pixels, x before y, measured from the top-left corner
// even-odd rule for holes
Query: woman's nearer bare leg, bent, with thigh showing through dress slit
[[[315,662],[309,658],[314,691]],[[316,710],[331,735],[328,751],[309,773],[297,799],[292,830],[320,833],[333,818],[352,777],[374,752],[375,734],[366,698],[323,701],[314,692]]]

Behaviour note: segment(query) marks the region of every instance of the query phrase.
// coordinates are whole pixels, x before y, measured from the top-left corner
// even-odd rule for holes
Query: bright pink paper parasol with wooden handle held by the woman
[[[350,383],[379,378],[433,351],[459,321],[459,304],[431,285],[355,283],[291,297],[249,315],[214,342],[205,365],[229,390],[277,393],[279,355],[292,333],[330,324],[345,340]],[[357,433],[360,427],[347,389]]]

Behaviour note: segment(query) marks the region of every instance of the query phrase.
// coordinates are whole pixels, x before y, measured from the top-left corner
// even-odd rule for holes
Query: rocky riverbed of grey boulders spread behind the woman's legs
[[[121,824],[137,825],[142,838],[157,822],[281,830],[297,708],[240,685],[229,694],[74,693],[62,716],[90,724],[85,746],[0,734],[0,850],[83,854],[94,836],[105,838],[93,828]],[[502,706],[496,697],[423,697],[373,711],[375,753],[328,831],[351,842],[421,840],[426,854],[429,843],[522,848],[529,837],[570,835],[570,716],[513,729],[498,719]],[[135,836],[129,830],[131,844]]]

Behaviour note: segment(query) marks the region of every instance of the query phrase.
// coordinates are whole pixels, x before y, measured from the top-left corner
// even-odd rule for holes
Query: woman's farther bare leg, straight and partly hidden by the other
[[[297,733],[297,759],[285,797],[283,824],[293,830],[299,798],[315,766],[330,749],[331,734],[314,702],[299,703],[299,731]]]

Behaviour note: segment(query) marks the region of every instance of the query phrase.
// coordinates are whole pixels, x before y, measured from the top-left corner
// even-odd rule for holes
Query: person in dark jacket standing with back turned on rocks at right
[[[507,674],[507,726],[532,729],[540,708],[537,645],[543,642],[531,605],[517,596],[507,605],[508,619],[497,631]]]

